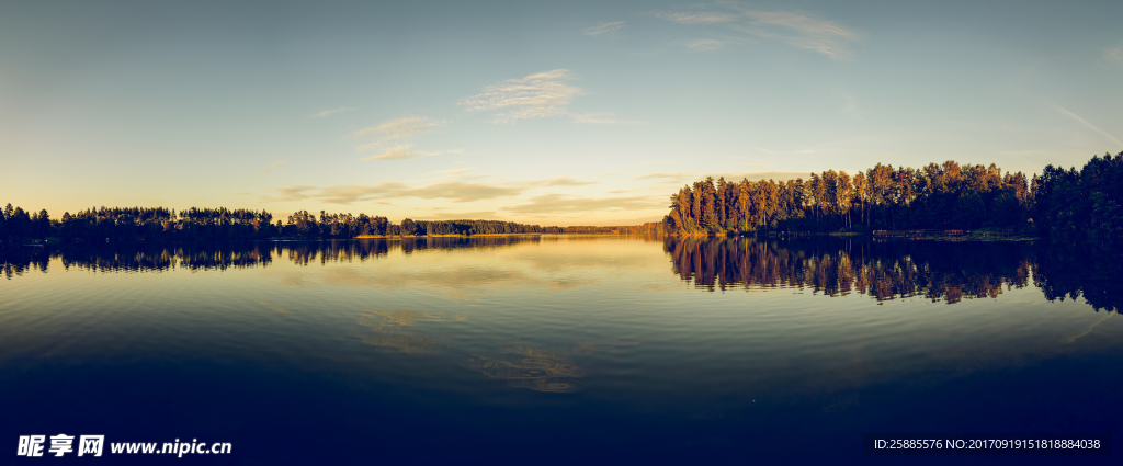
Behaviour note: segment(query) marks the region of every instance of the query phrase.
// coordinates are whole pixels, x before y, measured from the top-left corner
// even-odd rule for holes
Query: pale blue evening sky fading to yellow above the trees
[[[0,2],[0,203],[658,221],[1123,150],[1123,2]]]

